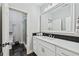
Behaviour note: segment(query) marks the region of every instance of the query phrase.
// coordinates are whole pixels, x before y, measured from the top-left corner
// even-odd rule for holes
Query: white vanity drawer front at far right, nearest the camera
[[[71,52],[69,50],[60,48],[60,47],[56,47],[56,55],[60,55],[60,56],[79,56],[78,54]]]

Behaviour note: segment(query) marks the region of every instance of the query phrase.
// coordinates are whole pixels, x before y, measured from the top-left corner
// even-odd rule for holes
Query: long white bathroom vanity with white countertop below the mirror
[[[33,51],[38,56],[79,56],[79,43],[46,36],[33,36]]]

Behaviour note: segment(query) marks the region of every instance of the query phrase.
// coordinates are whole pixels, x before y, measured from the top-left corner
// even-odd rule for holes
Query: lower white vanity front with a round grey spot
[[[50,50],[47,46],[39,44],[39,56],[55,56],[55,51]]]

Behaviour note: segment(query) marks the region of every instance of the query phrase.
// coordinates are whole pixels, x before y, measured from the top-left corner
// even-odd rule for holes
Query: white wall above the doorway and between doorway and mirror
[[[27,12],[27,54],[32,52],[32,33],[39,32],[40,8],[32,4],[16,3],[9,4],[10,7]]]

